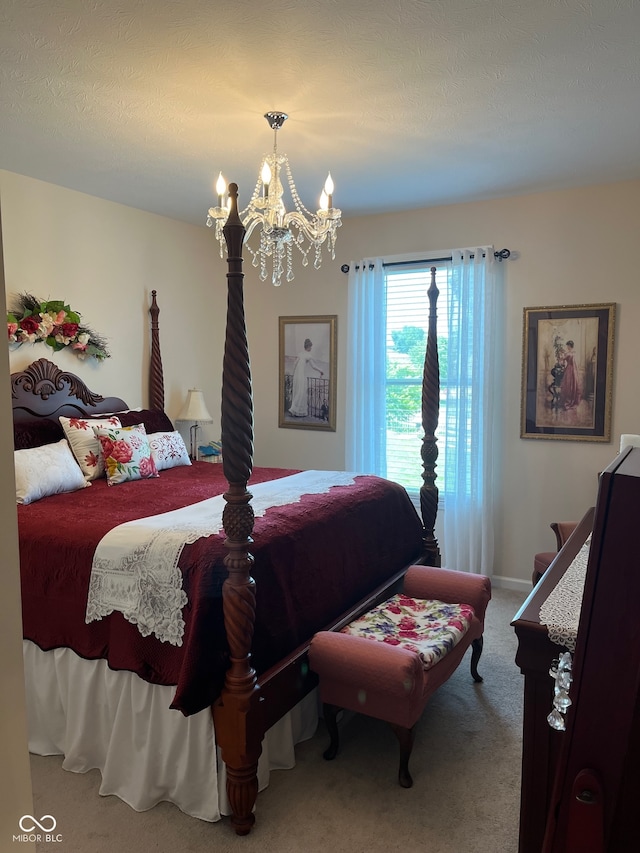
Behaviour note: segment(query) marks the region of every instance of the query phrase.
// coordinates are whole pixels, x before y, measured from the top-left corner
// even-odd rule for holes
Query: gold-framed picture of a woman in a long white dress
[[[278,319],[278,426],[335,432],[337,315]]]

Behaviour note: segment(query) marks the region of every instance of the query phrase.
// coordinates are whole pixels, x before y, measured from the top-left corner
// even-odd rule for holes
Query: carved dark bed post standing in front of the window
[[[430,566],[440,565],[440,549],[435,536],[438,514],[438,488],[436,486],[436,460],[438,445],[435,436],[440,409],[440,366],[438,364],[438,330],[436,304],[440,291],[436,287],[436,268],[431,267],[429,296],[429,329],[427,351],[422,375],[422,486],[420,486],[420,512],[424,524],[424,559]]]

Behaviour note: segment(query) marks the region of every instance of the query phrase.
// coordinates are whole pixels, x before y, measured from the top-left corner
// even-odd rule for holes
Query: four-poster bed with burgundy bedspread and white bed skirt
[[[223,464],[185,462],[117,488],[97,477],[91,488],[19,505],[18,525],[32,751],[64,753],[71,770],[98,767],[101,793],[117,793],[134,808],[170,800],[207,820],[230,814],[236,832],[246,834],[269,769],[292,766],[293,744],[315,728],[316,679],[307,665],[313,634],[343,627],[386,598],[412,563],[439,565],[438,291],[433,268],[422,521],[404,489],[381,478],[254,469],[244,229],[234,185],[230,194]],[[142,423],[147,435],[173,431],[164,413],[155,296],[149,409],[129,410],[124,400],[102,397],[40,359],[11,376],[18,452],[66,452],[59,416],[89,425],[98,416],[118,419],[118,427],[99,430],[135,431]],[[194,517],[205,506],[213,515],[198,522],[203,532]],[[123,562],[124,580],[101,562],[104,552],[98,559],[115,529],[158,513],[169,514],[158,522],[162,535],[184,525],[189,533],[166,577],[139,562],[140,546]],[[103,569],[99,581],[96,569]],[[142,604],[125,617],[122,604],[109,609],[109,595],[117,600],[132,576]],[[94,586],[106,591],[107,607],[87,622]],[[173,615],[163,622],[159,608],[167,601]]]

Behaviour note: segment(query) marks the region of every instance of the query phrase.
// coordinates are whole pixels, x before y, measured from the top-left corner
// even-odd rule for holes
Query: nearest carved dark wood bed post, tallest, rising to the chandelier
[[[247,482],[253,466],[251,369],[244,316],[242,242],[245,229],[238,216],[238,186],[230,184],[231,209],[227,242],[227,328],[222,368],[222,461],[229,488],[222,523],[229,551],[229,576],[222,588],[224,624],[230,667],[220,699],[213,706],[216,739],[227,767],[231,824],[238,835],[251,831],[258,795],[258,759],[262,750],[259,688],[251,666],[255,621],[255,583],[251,577],[253,508]]]

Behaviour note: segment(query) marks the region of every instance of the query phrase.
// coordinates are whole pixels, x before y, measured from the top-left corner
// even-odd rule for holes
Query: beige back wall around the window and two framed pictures
[[[513,585],[509,579],[516,579],[526,587],[534,553],[552,550],[555,544],[549,523],[581,518],[595,502],[597,473],[615,456],[620,434],[640,433],[639,211],[640,182],[631,181],[361,217],[344,223],[336,260],[325,261],[319,272],[296,273],[294,282],[279,289],[248,282],[257,461],[320,468],[344,464],[343,263],[457,246],[507,247],[512,259],[504,262],[505,327],[494,331],[503,337],[506,353],[504,409],[496,412],[504,445],[495,574],[498,582]],[[595,302],[615,302],[618,310],[611,442],[521,439],[523,308]],[[338,429],[333,435],[277,428],[276,338],[281,314],[338,315]],[[256,334],[260,329],[263,333]]]

